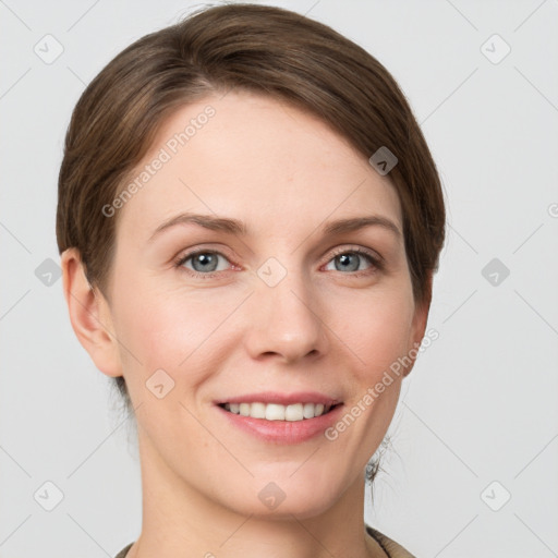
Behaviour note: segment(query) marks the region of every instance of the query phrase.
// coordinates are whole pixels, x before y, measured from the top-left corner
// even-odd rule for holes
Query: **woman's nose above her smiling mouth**
[[[292,364],[327,352],[327,328],[316,293],[300,272],[289,271],[275,287],[256,277],[247,313],[250,327],[244,339],[253,359],[275,355]]]

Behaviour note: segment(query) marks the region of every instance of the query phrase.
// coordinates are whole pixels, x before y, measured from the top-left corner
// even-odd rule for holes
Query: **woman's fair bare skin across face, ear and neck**
[[[180,108],[138,167],[208,104],[216,114],[119,209],[107,298],[89,288],[75,248],[62,255],[72,327],[104,374],[125,377],[136,409],[143,525],[128,556],[385,556],[364,532],[364,469],[412,365],[333,441],[266,442],[213,402],[312,390],[349,410],[421,342],[429,303],[413,300],[402,235],[320,232],[374,214],[402,233],[398,195],[323,121],[239,92]],[[148,242],[182,211],[241,219],[250,234],[190,223]],[[222,254],[215,277],[190,275],[208,272],[193,258],[174,266],[192,248]],[[272,288],[257,275],[269,257],[287,271]],[[174,381],[162,399],[146,387],[159,368]],[[258,498],[269,482],[286,495],[275,510]]]

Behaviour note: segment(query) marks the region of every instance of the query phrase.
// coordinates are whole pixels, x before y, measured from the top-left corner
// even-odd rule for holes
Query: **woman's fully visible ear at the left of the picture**
[[[64,298],[75,336],[99,371],[107,376],[122,376],[108,302],[89,284],[77,248],[65,250],[61,258]]]

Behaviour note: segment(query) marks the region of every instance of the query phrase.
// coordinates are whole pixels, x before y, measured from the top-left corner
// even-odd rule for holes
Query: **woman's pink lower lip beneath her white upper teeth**
[[[343,404],[338,404],[327,414],[314,418],[303,418],[302,421],[266,421],[265,418],[253,418],[252,416],[231,413],[218,405],[216,408],[233,426],[264,441],[300,444],[324,434],[324,430],[338,420]]]

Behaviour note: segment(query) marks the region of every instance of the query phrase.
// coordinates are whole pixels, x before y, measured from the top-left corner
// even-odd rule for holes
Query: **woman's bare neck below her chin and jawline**
[[[365,532],[364,475],[333,506],[311,518],[242,515],[178,477],[141,435],[140,453],[142,533],[126,558],[385,557]]]

